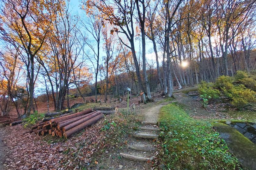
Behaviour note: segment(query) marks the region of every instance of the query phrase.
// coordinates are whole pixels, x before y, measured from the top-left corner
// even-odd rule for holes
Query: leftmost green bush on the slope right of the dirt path
[[[206,83],[205,81],[201,81],[198,85],[198,92],[200,95],[204,96],[207,100],[210,98],[217,99],[220,96],[220,91],[218,89],[214,89],[212,83]]]

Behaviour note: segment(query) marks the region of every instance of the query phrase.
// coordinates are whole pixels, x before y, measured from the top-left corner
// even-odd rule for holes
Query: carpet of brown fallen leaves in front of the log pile
[[[80,169],[85,163],[91,162],[92,155],[99,148],[106,145],[105,132],[101,131],[103,121],[67,140],[23,134],[25,129],[21,124],[4,127],[3,137],[9,148],[6,169]],[[94,163],[98,164],[97,161]]]

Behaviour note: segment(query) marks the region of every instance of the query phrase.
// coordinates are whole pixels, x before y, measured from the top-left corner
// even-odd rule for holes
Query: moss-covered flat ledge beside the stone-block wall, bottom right
[[[235,155],[244,169],[255,169],[256,145],[235,128],[223,123],[212,123],[220,136],[226,141],[230,151]]]

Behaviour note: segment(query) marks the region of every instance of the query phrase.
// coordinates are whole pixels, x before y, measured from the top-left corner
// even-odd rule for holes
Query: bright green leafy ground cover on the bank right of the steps
[[[189,117],[180,105],[162,107],[160,122],[159,157],[167,169],[241,169],[212,125]]]

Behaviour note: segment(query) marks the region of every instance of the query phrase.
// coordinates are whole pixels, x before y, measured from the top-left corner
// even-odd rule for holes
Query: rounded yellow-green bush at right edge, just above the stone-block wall
[[[242,109],[249,102],[255,102],[256,93],[244,87],[244,85],[234,86],[230,90],[224,90],[227,97],[231,99],[231,104],[236,106],[237,109]]]

